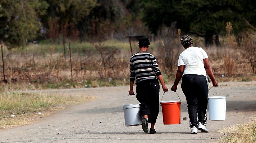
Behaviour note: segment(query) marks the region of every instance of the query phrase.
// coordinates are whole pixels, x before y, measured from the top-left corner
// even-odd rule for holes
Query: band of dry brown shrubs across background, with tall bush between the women
[[[184,50],[179,37],[180,32],[177,33],[177,29],[162,28],[158,36],[159,40],[155,43],[151,41],[152,45],[157,43],[152,52],[157,58],[163,75],[169,76],[165,79],[170,79],[175,75],[179,54]],[[230,38],[230,48],[227,48],[227,44],[221,47],[203,47],[209,56],[214,75],[225,74],[228,78],[237,75],[251,76],[256,72],[255,34],[244,32],[241,46],[232,46],[233,36]],[[196,42],[194,44],[198,45]],[[85,45],[85,47],[87,48],[77,51],[74,48],[72,52],[73,82],[85,83],[87,80],[92,84],[92,81],[108,82],[113,79],[113,82],[117,79],[124,81],[124,84],[128,83],[124,79],[129,78],[129,48],[119,47],[118,49],[117,46],[105,46],[101,43],[94,43],[89,47]],[[71,79],[70,61],[69,58],[65,60],[63,54],[60,53],[62,46],[58,51],[58,45],[49,45],[48,52],[42,52],[39,46],[36,48],[38,52],[9,50],[6,53],[4,57],[6,79],[27,84],[55,84],[66,83],[66,81],[69,83],[68,80]],[[2,67],[0,70],[3,70]],[[0,74],[0,78],[3,79],[3,74]]]

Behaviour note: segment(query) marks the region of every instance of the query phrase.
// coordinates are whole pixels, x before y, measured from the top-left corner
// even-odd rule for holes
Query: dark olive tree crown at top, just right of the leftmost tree
[[[99,5],[97,0],[46,0],[49,7],[47,15],[42,16],[42,22],[47,29],[52,29],[50,23],[58,21],[59,26],[55,26],[58,31],[63,31],[67,35],[68,29],[77,27],[79,21],[91,13],[95,6]],[[55,30],[55,31],[56,31]],[[64,33],[65,32],[65,33]]]

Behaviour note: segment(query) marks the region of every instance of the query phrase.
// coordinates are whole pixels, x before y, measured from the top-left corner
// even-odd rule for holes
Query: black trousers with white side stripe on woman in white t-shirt
[[[206,125],[209,79],[204,75],[185,74],[182,76],[181,88],[188,104],[189,126],[198,128],[198,122]],[[197,120],[198,119],[198,120]]]

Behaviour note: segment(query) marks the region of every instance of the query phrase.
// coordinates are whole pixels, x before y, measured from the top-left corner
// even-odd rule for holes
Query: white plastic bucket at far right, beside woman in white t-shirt
[[[225,91],[225,93],[226,93],[226,91]],[[226,96],[208,97],[209,119],[210,120],[225,120],[226,119],[226,100],[227,100],[227,94],[226,94]]]

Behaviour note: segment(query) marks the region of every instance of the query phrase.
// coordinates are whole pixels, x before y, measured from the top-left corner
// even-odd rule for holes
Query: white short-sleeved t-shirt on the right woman
[[[204,59],[208,58],[205,50],[199,47],[189,47],[179,55],[178,66],[185,65],[184,74],[206,75]]]

